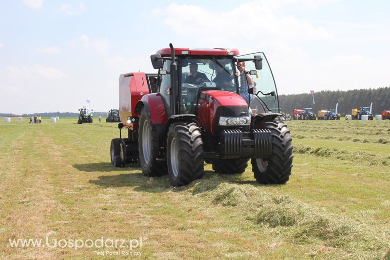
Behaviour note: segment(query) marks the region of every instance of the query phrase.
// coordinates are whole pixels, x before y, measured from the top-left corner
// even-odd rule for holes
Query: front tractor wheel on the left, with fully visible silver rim
[[[167,135],[167,164],[172,186],[203,177],[203,141],[194,122],[174,122]]]

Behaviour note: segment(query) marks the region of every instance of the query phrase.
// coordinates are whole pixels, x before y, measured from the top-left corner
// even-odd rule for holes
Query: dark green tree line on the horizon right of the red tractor
[[[312,107],[317,114],[318,110],[331,109],[338,103],[338,113],[342,116],[351,114],[352,108],[368,106],[372,102],[372,114],[381,114],[382,110],[390,109],[390,87],[377,89],[353,89],[347,91],[324,90],[312,94],[280,95],[279,104],[282,112],[292,114],[295,108]]]

